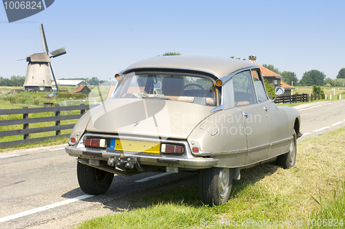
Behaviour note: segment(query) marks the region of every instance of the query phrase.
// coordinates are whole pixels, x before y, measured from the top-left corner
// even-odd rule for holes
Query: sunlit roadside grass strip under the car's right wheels
[[[146,197],[146,206],[85,221],[79,229],[311,228],[326,220],[326,227],[334,228],[330,222],[337,220],[337,228],[344,228],[344,164],[345,128],[340,128],[299,143],[296,166],[289,170],[273,163],[242,170],[224,205],[204,206],[199,186],[181,186]]]

